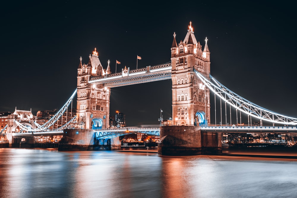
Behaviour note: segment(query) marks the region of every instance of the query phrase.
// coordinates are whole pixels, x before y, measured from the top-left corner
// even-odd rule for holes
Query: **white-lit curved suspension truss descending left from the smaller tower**
[[[77,92],[77,89],[75,89],[75,91],[73,92],[73,94],[71,95],[71,97],[64,104],[64,106],[58,111],[58,113],[56,113],[52,118],[50,118],[49,121],[47,121],[46,123],[44,123],[41,126],[40,125],[37,126],[37,128],[35,128],[35,129],[31,129],[31,127],[28,127],[26,125],[23,125],[22,123],[20,123],[20,122],[18,122],[16,120],[14,120],[14,122],[20,127],[20,129],[22,129],[24,131],[28,131],[28,132],[38,132],[38,131],[48,130],[50,128],[50,126],[52,126],[56,121],[58,121],[59,118],[61,118],[61,116],[65,113],[65,111],[67,110],[67,108],[69,107],[69,105],[72,103],[72,100],[73,100],[74,96],[76,95],[76,92]],[[72,118],[72,120],[73,119],[74,118]]]

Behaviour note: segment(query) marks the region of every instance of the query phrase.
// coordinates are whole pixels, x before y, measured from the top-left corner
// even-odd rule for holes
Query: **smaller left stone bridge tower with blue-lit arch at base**
[[[82,129],[104,129],[109,124],[110,88],[89,83],[91,77],[110,74],[108,61],[107,69],[103,69],[95,50],[89,56],[88,64],[80,64],[77,73],[77,122]]]

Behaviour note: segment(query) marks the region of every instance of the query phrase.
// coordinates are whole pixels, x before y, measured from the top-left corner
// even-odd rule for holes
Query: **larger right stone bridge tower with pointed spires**
[[[176,42],[173,34],[172,117],[175,125],[202,126],[210,123],[209,89],[198,79],[193,69],[209,79],[210,52],[205,39],[204,50],[197,42],[192,22],[184,41]]]

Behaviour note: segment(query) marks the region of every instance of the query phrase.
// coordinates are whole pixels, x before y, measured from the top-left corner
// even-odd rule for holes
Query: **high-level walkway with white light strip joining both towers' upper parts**
[[[171,79],[171,63],[148,66],[146,68],[129,71],[127,77],[122,73],[110,74],[107,76],[93,77],[89,83],[103,84],[106,87],[120,87],[132,84],[148,83],[159,80]]]

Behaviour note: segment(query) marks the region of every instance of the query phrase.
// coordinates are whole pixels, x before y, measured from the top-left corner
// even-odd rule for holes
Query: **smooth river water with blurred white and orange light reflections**
[[[0,197],[297,197],[297,152],[156,151],[0,148]]]

